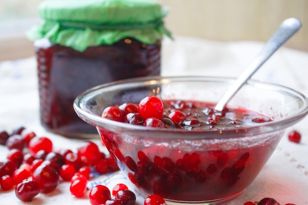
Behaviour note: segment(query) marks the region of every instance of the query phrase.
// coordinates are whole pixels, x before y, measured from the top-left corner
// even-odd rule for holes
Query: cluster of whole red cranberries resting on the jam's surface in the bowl
[[[181,111],[186,106],[191,108],[193,104],[186,105],[182,101],[177,101],[171,105],[174,109],[166,112],[163,102],[158,97],[147,96],[139,104],[123,103],[120,106],[109,106],[101,116],[109,120],[153,128],[182,128],[200,124],[196,118],[190,119],[191,113]],[[207,124],[216,124],[221,119],[221,113],[214,113],[213,109],[209,112],[213,117],[209,118]]]

